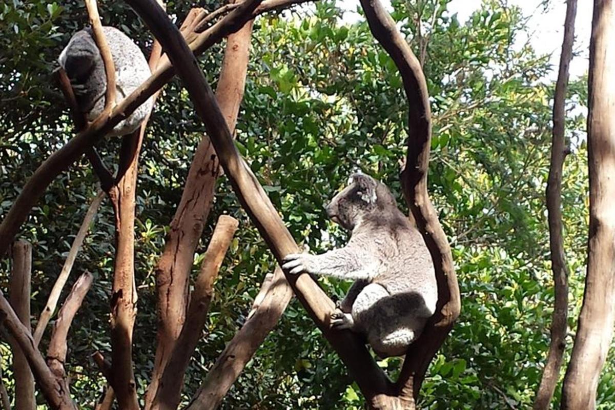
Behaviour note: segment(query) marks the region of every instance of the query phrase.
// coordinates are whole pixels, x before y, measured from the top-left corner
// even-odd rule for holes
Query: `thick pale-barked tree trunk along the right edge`
[[[593,3],[589,47],[589,245],[585,293],[561,400],[565,410],[595,409],[596,389],[615,320],[615,14]]]

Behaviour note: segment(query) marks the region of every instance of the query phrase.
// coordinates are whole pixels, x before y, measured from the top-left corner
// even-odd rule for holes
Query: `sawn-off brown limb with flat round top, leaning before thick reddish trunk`
[[[218,276],[224,255],[231,245],[238,225],[239,222],[232,216],[222,215],[218,219],[194,284],[186,321],[175,342],[169,363],[162,373],[152,409],[174,410],[180,404],[183,376],[207,322],[207,312],[213,296],[213,282]]]

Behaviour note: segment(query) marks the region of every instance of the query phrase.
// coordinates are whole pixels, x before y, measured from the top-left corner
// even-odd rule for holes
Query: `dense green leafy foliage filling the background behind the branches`
[[[393,2],[393,17],[424,58],[434,113],[430,192],[453,248],[462,291],[462,315],[432,363],[421,406],[530,408],[546,357],[553,305],[544,200],[553,68],[546,56],[515,41],[527,30],[518,9],[485,0],[482,10],[460,23],[446,12],[447,3]],[[178,22],[188,12],[185,2],[167,4]],[[106,24],[122,28],[144,50],[151,46],[148,31],[132,10],[117,2],[101,2],[100,7]],[[215,7],[210,4],[210,9]],[[55,57],[86,20],[80,1],[13,0],[0,5],[0,215],[6,215],[34,169],[73,132],[50,78]],[[201,61],[215,85],[221,47]],[[585,102],[585,90],[585,79],[571,84],[571,106]],[[165,87],[159,101],[142,152],[137,197],[140,301],[134,360],[140,393],[148,383],[155,349],[153,269],[204,132],[177,81]],[[323,0],[308,10],[257,20],[237,143],[298,241],[314,251],[343,243],[345,234],[327,221],[323,207],[354,168],[383,179],[400,194],[406,117],[394,64],[367,25],[341,20],[333,2]],[[572,154],[563,176],[563,215],[571,267],[569,324],[574,331],[587,242],[584,117],[569,115],[567,127]],[[117,139],[99,144],[108,164],[116,160],[118,146]],[[50,186],[20,234],[34,246],[36,316],[96,189],[97,179],[82,160]],[[240,228],[216,282],[207,332],[186,375],[186,401],[245,320],[260,281],[274,266],[223,179],[195,271],[220,213],[239,218]],[[73,273],[73,280],[84,270],[95,275],[69,335],[66,367],[82,408],[93,408],[105,385],[90,355],[110,349],[111,215],[109,204],[103,203]],[[0,267],[4,291],[9,264],[4,260]],[[338,296],[349,287],[334,280],[322,283]],[[571,341],[569,337],[568,352]],[[0,352],[2,377],[11,393],[10,350],[4,341]],[[395,375],[400,360],[380,363]],[[615,409],[614,377],[611,360],[598,389],[600,409]],[[296,301],[223,402],[225,409],[361,406],[358,388]]]

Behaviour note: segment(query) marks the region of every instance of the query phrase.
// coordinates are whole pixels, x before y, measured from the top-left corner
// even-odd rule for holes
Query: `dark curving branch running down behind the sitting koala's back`
[[[408,154],[402,171],[402,186],[408,207],[429,248],[438,283],[438,304],[423,334],[408,350],[397,381],[400,400],[418,396],[427,367],[461,310],[459,285],[446,235],[427,192],[427,170],[431,146],[431,109],[427,83],[410,46],[378,0],[360,0],[371,33],[391,56],[408,99]]]

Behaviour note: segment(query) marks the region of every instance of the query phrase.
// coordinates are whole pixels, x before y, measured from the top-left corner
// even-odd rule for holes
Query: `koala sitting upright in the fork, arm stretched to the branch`
[[[288,254],[290,274],[355,280],[330,325],[363,334],[382,358],[401,356],[435,312],[434,264],[423,236],[381,182],[355,173],[327,205],[327,215],[351,232],[341,249]]]

